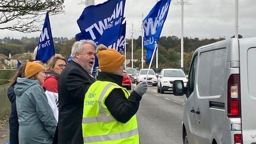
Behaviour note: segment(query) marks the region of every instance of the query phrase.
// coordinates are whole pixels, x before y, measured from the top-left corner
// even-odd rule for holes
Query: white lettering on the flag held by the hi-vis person
[[[143,21],[143,27],[146,33],[146,36],[149,35],[149,32],[151,32],[151,35],[156,34],[156,28],[159,26],[162,26],[164,23],[164,15],[167,13],[169,8],[169,3],[167,2],[165,6],[158,10],[157,17],[155,17],[155,20],[153,21],[153,18],[148,18],[147,20]]]

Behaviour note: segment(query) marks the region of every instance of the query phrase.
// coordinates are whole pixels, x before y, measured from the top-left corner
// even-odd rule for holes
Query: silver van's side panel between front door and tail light
[[[227,41],[226,41],[227,42]],[[215,140],[224,142],[226,56],[225,42],[216,42],[198,52],[198,66],[195,80],[195,107],[198,144]],[[210,108],[210,102],[222,108]],[[224,107],[224,108],[223,108]],[[220,143],[220,142],[219,142]]]

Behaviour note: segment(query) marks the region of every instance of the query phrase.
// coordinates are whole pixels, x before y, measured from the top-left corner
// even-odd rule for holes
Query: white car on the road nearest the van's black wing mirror
[[[163,94],[165,91],[172,91],[174,80],[182,80],[185,87],[188,82],[183,70],[175,68],[162,69],[160,75],[158,75],[157,92]]]

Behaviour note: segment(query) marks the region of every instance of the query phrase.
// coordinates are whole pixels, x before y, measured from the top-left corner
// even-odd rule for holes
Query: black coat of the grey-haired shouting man
[[[84,96],[94,81],[95,79],[73,60],[60,74],[58,134],[56,134],[58,144],[83,144]],[[56,138],[54,142],[56,143]]]

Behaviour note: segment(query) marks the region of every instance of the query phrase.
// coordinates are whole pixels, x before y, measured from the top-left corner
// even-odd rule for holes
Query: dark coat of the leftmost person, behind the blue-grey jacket
[[[14,93],[14,86],[10,86],[8,89],[7,96],[11,102],[12,111],[9,117],[9,128],[10,128],[10,143],[18,144],[19,143],[19,122],[18,114],[16,110],[16,94]]]

